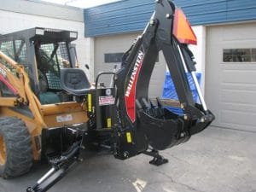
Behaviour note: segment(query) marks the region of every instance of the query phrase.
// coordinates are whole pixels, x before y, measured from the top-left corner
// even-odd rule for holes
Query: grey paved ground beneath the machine
[[[209,127],[161,154],[169,163],[151,166],[144,154],[123,161],[85,151],[49,192],[256,192],[256,132]],[[0,178],[0,192],[26,191],[48,170],[38,164],[25,176]]]

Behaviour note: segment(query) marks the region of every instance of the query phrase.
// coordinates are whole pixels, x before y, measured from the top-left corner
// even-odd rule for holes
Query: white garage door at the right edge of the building
[[[256,131],[256,23],[207,27],[206,100],[213,125]]]

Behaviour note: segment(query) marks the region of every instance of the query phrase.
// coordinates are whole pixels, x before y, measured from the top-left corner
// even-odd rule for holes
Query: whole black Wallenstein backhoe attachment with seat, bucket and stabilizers
[[[147,154],[154,157],[151,164],[160,166],[168,160],[159,150],[187,142],[207,128],[214,115],[207,109],[195,78],[194,55],[188,44],[196,44],[196,37],[182,10],[170,0],[157,0],[148,26],[123,56],[117,73],[100,73],[95,87],[91,87],[82,70],[62,70],[63,90],[77,102],[87,104],[90,119],[85,143],[107,147],[120,160]],[[148,98],[150,77],[160,51],[172,74],[183,114],[167,110],[159,97]],[[186,73],[191,73],[200,103],[193,100]],[[99,77],[106,74],[113,77],[111,87],[98,84]],[[27,192],[44,192],[57,182],[78,160],[79,141]]]

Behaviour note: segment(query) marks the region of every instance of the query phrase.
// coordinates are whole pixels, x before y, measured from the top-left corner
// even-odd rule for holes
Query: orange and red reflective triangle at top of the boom
[[[181,44],[197,44],[195,32],[182,9],[175,9],[172,33]]]

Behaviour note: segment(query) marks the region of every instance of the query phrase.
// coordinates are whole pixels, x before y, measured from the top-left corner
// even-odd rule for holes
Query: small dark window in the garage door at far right
[[[256,62],[256,48],[224,49],[224,62]]]

